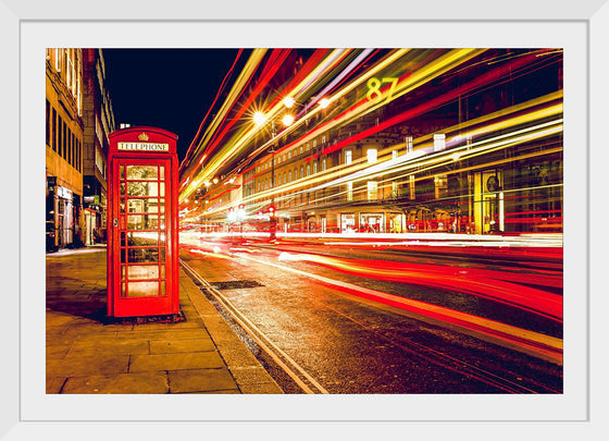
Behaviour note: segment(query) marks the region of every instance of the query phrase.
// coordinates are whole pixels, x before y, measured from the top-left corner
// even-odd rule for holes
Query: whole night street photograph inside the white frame
[[[48,49],[47,392],[562,394],[562,57]]]

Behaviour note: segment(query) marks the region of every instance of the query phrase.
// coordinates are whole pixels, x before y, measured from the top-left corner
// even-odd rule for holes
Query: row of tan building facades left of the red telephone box
[[[99,49],[46,59],[47,250],[104,241],[108,134],[114,115]]]

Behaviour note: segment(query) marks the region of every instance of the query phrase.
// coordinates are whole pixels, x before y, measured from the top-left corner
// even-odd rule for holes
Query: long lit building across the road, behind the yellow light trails
[[[318,90],[337,84],[332,74],[312,86],[312,103],[286,105],[303,115],[294,127],[277,107],[275,120],[260,119],[249,162],[227,162],[217,185],[185,204],[185,220],[226,231],[227,212],[243,205],[258,231],[276,222],[277,232],[562,232],[561,50],[375,53],[360,71],[368,82],[337,88],[323,109]],[[365,74],[381,64],[386,76]],[[239,197],[223,191],[240,175]]]

